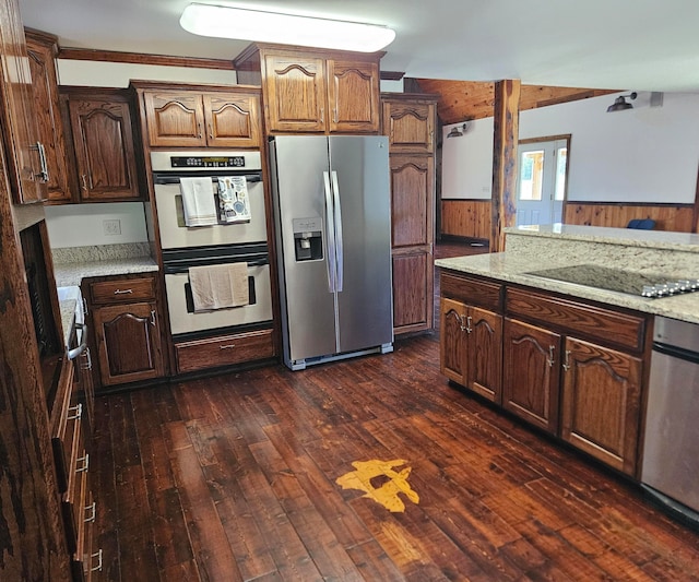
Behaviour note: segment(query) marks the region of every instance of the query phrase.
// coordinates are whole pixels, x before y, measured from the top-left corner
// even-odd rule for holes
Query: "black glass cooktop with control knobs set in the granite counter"
[[[573,264],[525,274],[653,299],[699,290],[699,278],[673,277],[597,264]]]

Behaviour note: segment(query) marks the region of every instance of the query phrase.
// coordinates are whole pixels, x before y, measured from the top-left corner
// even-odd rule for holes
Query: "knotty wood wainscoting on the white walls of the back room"
[[[624,228],[632,218],[652,218],[655,230],[696,233],[692,204],[621,204],[574,202],[566,204],[565,224]],[[488,239],[490,200],[442,200],[439,234]]]

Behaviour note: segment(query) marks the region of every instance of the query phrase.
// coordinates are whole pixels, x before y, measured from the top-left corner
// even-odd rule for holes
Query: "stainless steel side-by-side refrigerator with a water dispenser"
[[[393,349],[388,139],[270,141],[284,363]]]

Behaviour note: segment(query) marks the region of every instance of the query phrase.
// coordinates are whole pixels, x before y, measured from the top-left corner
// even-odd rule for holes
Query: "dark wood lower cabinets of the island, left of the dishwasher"
[[[442,373],[638,476],[645,316],[509,286],[500,308],[497,285],[441,275]]]

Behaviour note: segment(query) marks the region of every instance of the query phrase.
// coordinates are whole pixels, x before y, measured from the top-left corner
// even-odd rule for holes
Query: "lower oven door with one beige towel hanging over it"
[[[165,292],[174,336],[220,328],[250,325],[272,320],[270,265],[248,265],[250,304],[228,309],[194,312],[188,273],[165,275]]]

